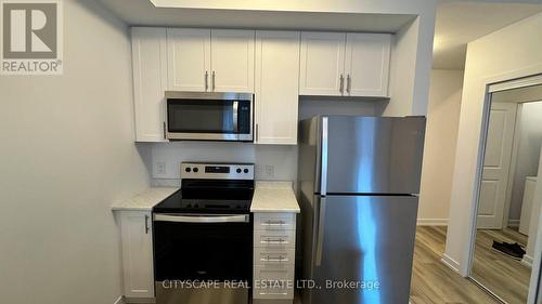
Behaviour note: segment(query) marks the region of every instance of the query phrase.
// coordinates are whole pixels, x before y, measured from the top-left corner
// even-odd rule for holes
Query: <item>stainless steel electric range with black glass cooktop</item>
[[[254,164],[184,162],[181,179],[153,209],[156,303],[248,303]]]

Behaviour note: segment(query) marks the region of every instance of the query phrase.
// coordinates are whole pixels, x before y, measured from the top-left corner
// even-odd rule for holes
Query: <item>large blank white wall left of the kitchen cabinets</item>
[[[0,302],[111,304],[113,201],[147,187],[133,144],[127,28],[64,3],[64,75],[0,76]]]

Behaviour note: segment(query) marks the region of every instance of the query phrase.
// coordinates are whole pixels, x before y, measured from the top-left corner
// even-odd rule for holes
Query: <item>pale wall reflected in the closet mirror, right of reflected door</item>
[[[542,102],[525,103],[521,106],[516,170],[512,187],[509,220],[519,220],[524,200],[525,177],[537,176],[540,147],[542,144]],[[518,133],[516,133],[518,134]]]

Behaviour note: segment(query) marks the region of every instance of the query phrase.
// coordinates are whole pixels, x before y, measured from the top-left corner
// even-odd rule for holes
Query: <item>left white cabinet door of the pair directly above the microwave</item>
[[[167,44],[169,90],[208,91],[210,30],[168,28]]]

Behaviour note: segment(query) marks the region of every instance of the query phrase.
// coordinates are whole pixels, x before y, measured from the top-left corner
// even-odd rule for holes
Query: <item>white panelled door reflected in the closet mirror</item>
[[[516,123],[514,103],[492,103],[478,206],[479,229],[502,229]]]

